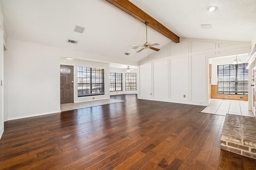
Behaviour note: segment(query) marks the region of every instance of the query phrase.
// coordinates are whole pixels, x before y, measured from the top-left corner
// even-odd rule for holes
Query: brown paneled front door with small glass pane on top
[[[74,103],[74,66],[60,65],[60,104]]]

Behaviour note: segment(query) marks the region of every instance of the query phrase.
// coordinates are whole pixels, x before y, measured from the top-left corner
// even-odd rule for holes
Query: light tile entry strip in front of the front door
[[[95,101],[88,101],[88,102],[66,103],[66,104],[60,104],[60,110],[68,111],[68,110],[82,109],[86,107],[100,106],[104,104],[112,104],[112,103],[118,103],[118,102],[124,102],[124,100],[102,99],[102,100],[95,100]]]

